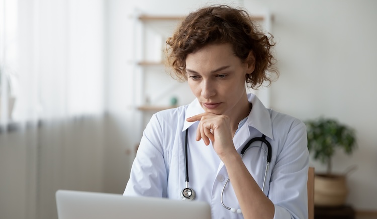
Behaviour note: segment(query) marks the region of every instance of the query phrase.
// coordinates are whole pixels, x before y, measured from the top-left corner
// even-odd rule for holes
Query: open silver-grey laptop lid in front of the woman
[[[58,190],[59,219],[211,219],[211,208],[204,201],[182,201],[156,197]]]

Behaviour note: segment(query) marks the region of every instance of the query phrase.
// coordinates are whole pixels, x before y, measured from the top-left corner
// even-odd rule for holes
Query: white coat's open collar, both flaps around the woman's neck
[[[266,135],[270,139],[273,139],[272,122],[271,122],[271,116],[269,114],[269,111],[264,107],[263,103],[254,94],[248,94],[247,98],[253,106],[247,118],[248,126],[254,127],[258,131],[260,131],[262,134]],[[187,106],[187,109],[186,109],[182,131],[185,131],[187,128],[189,128],[191,125],[195,123],[195,122],[187,122],[186,118],[189,118],[191,116],[195,116],[204,112],[205,111],[200,105],[198,99],[195,99],[193,102],[191,102],[189,106]]]

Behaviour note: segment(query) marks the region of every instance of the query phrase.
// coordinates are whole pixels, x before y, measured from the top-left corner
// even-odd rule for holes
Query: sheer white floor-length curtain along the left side
[[[0,218],[57,218],[57,189],[102,189],[105,10],[0,0]]]

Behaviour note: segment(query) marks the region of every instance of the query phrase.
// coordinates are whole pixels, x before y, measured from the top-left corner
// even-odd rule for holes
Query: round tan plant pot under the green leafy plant
[[[314,177],[314,204],[340,206],[346,201],[348,189],[345,175],[316,174]]]

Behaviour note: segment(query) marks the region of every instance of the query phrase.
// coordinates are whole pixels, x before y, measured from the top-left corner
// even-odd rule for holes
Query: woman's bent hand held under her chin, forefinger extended
[[[187,122],[200,121],[196,140],[199,141],[203,139],[206,145],[209,145],[211,140],[212,146],[220,159],[229,153],[237,153],[233,144],[230,119],[227,115],[205,112],[187,118],[186,120]]]

